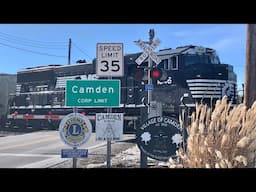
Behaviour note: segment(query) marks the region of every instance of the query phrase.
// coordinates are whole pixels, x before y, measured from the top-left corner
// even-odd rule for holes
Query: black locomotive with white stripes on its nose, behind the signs
[[[147,60],[137,65],[141,53],[124,57],[124,77],[121,80],[121,105],[113,112],[124,113],[124,132],[134,131],[142,111],[148,107]],[[202,46],[182,46],[156,53],[161,63],[153,66],[160,77],[153,77],[152,100],[161,104],[164,116],[178,118],[181,107],[191,109],[197,102],[211,106],[227,95],[237,102],[237,79],[232,65],[222,64],[216,51]],[[65,106],[65,82],[70,79],[99,79],[92,63],[48,65],[26,68],[17,73],[16,92],[10,94],[8,115],[1,129],[35,131],[58,129],[61,119],[73,111]],[[152,71],[152,70],[151,70]],[[181,102],[182,101],[182,102]],[[106,108],[79,108],[78,112],[95,121],[95,113]]]

